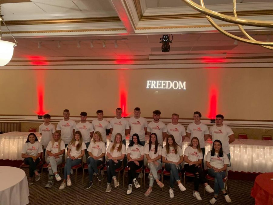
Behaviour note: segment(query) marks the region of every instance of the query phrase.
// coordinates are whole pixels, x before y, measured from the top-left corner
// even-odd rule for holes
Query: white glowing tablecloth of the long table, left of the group
[[[0,159],[22,160],[21,151],[23,144],[28,138],[30,132],[7,132],[0,135]],[[35,132],[38,140],[41,135]],[[2,205],[2,204],[1,204]]]

